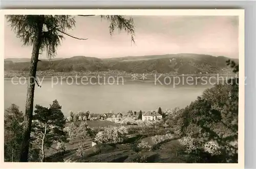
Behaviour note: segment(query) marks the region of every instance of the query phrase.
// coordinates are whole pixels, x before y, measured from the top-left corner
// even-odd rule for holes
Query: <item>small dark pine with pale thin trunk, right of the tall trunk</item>
[[[53,101],[50,108],[35,106],[33,120],[32,140],[41,152],[41,162],[45,160],[45,149],[50,148],[54,142],[66,142],[65,116],[61,112],[61,106],[57,100]]]

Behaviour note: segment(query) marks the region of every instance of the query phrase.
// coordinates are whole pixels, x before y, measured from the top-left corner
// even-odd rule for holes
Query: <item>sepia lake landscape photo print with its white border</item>
[[[5,162],[243,162],[243,10],[46,11],[4,15]]]

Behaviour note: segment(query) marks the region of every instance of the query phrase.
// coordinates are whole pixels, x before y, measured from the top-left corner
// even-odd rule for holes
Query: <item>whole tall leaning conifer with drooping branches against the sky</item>
[[[79,15],[87,16],[87,15]],[[16,37],[21,39],[24,45],[33,46],[29,68],[29,83],[27,87],[27,100],[24,117],[24,135],[21,144],[20,162],[28,161],[30,133],[33,116],[33,102],[35,89],[35,76],[39,54],[46,52],[49,58],[56,55],[56,49],[60,45],[64,36],[70,36],[78,40],[87,38],[77,38],[66,33],[75,27],[75,17],[71,15],[7,15],[12,30]],[[133,19],[126,19],[120,15],[104,15],[103,19],[110,21],[110,34],[115,29],[124,30],[131,34],[134,42]]]

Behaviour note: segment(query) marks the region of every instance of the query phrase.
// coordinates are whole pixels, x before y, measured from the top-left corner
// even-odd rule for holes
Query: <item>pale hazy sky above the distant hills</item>
[[[238,58],[237,16],[133,16],[135,43],[124,31],[111,37],[109,22],[98,16],[76,16],[57,56],[111,58],[177,53],[197,53]],[[22,46],[5,21],[5,58],[30,58],[31,46]]]

